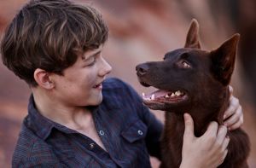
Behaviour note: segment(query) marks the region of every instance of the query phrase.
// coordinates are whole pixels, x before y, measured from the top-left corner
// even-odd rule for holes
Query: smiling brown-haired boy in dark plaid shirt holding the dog
[[[89,6],[33,0],[15,16],[1,43],[3,64],[29,84],[32,96],[13,167],[150,167],[160,159],[163,125],[102,57],[108,27]],[[230,118],[229,118],[230,117]],[[242,123],[230,97],[227,125]],[[227,128],[216,122],[195,137],[186,130],[181,167],[216,167],[227,154]],[[172,165],[171,165],[172,166]]]

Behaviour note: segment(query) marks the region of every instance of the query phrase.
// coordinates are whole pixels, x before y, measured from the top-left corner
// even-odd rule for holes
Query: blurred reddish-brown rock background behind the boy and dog
[[[0,34],[27,0],[0,1]],[[234,95],[239,97],[252,151],[250,167],[256,167],[256,2],[254,0],[108,0],[86,1],[99,9],[110,29],[104,55],[118,77],[139,92],[148,92],[137,82],[135,67],[143,61],[159,61],[166,51],[183,47],[192,18],[201,25],[203,49],[217,48],[233,33],[241,33],[240,54],[232,78]],[[184,77],[185,78],[185,77]],[[0,63],[0,167],[11,167],[11,157],[26,116],[30,90]],[[153,112],[162,121],[163,112]],[[159,161],[152,158],[152,166]]]

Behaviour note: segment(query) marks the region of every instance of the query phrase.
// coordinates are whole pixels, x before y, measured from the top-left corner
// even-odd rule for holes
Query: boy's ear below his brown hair
[[[46,90],[51,90],[55,86],[49,77],[49,72],[46,72],[44,69],[37,68],[34,72],[34,78],[38,85]]]

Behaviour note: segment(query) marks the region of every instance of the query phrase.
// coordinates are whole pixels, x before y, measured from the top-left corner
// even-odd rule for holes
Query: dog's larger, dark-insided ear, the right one
[[[213,74],[224,85],[230,84],[230,78],[235,67],[239,38],[240,34],[236,33],[218,49],[211,52]]]

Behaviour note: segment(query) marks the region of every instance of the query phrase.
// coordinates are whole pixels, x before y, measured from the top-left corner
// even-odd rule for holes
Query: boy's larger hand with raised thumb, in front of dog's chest
[[[181,168],[218,167],[228,154],[230,139],[226,137],[227,127],[212,122],[201,137],[195,137],[193,119],[184,114],[183,154]]]

